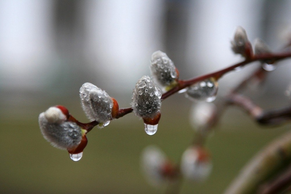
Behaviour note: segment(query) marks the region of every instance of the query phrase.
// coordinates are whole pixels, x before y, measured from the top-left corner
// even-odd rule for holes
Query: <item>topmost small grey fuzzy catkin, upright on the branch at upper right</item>
[[[234,53],[245,54],[246,43],[249,42],[246,31],[241,27],[237,27],[234,39],[231,41],[231,49]]]

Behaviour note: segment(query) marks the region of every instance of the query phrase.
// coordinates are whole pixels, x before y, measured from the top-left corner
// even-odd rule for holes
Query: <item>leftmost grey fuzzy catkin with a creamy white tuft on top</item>
[[[56,107],[40,113],[38,122],[43,137],[54,147],[67,149],[77,147],[81,142],[82,133],[80,127],[60,113]]]

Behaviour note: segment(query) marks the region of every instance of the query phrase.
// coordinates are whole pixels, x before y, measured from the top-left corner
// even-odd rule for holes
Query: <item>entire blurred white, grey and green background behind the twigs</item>
[[[83,158],[49,145],[38,115],[62,104],[87,122],[79,88],[91,82],[129,107],[132,89],[150,74],[151,54],[162,50],[187,79],[237,63],[230,40],[237,26],[272,50],[291,32],[291,1],[76,1],[0,0],[0,193],[162,193],[140,170],[147,145],[178,163],[193,138],[192,103],[183,94],[163,101],[154,136],[134,114],[88,134]],[[239,83],[253,64],[219,81],[218,96]],[[266,109],[287,106],[290,59],[268,74],[250,97]],[[206,147],[213,169],[204,182],[184,181],[180,193],[222,193],[264,145],[290,129],[259,127],[244,111],[228,108]]]

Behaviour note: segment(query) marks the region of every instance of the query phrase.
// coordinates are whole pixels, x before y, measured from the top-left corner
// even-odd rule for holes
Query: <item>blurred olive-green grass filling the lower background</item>
[[[129,114],[104,129],[94,128],[83,158],[73,162],[40,133],[38,114],[56,104],[52,101],[86,122],[77,100],[51,99],[12,108],[2,104],[1,193],[164,193],[166,186],[150,186],[140,170],[143,148],[157,145],[178,163],[193,138],[190,102],[177,104],[174,98],[163,102],[154,136],[146,135],[142,120]],[[210,177],[204,182],[183,181],[180,193],[222,193],[256,152],[289,128],[265,129],[236,108],[228,109],[206,143],[213,160]]]

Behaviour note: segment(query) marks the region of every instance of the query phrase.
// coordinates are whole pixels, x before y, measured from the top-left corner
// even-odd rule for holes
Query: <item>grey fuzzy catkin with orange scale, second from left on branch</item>
[[[99,127],[107,126],[118,113],[117,101],[92,83],[82,85],[80,98],[87,118],[100,122]]]

